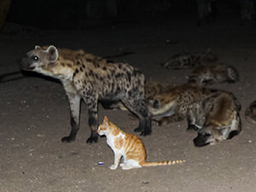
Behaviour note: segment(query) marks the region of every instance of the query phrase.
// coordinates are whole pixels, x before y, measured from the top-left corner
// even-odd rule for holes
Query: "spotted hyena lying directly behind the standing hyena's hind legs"
[[[195,102],[217,96],[224,90],[201,87],[197,84],[180,84],[148,99],[148,112],[159,125],[185,119],[188,108]]]

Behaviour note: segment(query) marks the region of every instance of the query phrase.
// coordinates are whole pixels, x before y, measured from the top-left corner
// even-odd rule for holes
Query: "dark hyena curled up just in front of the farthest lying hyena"
[[[195,67],[187,77],[189,83],[207,84],[236,83],[239,81],[239,73],[235,67],[224,64],[209,64]]]

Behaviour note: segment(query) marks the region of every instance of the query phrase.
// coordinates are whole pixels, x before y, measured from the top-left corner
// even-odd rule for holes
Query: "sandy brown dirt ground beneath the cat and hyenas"
[[[161,62],[174,54],[211,48],[219,61],[240,72],[239,83],[216,87],[234,92],[241,102],[242,131],[229,141],[196,148],[196,133],[186,131],[185,121],[153,125],[152,135],[142,137],[148,161],[186,162],[130,171],[119,167],[112,171],[109,166],[113,164],[113,152],[106,138],[99,138],[98,143],[85,143],[90,129],[84,103],[76,141],[61,143],[61,137],[70,131],[68,102],[61,84],[33,74],[5,83],[2,79],[1,192],[256,191],[256,128],[244,118],[245,108],[256,99],[256,27],[251,22],[239,26],[236,19],[220,19],[197,27],[191,20],[126,20],[69,31],[7,23],[0,34],[0,75],[19,71],[20,58],[35,44],[84,49],[102,56],[133,52],[116,59],[140,68],[147,79],[169,83],[184,83],[190,70],[167,70],[160,67]],[[128,112],[100,106],[100,121],[104,115],[126,132],[133,132],[138,123]],[[100,161],[104,162],[101,166],[97,164]]]

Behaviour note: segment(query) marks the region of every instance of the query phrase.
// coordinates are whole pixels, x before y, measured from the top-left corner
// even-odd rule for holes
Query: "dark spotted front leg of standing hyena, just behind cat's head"
[[[88,108],[90,137],[86,143],[93,143],[98,141],[97,128],[98,128],[98,104],[96,96],[84,96],[84,102]]]

